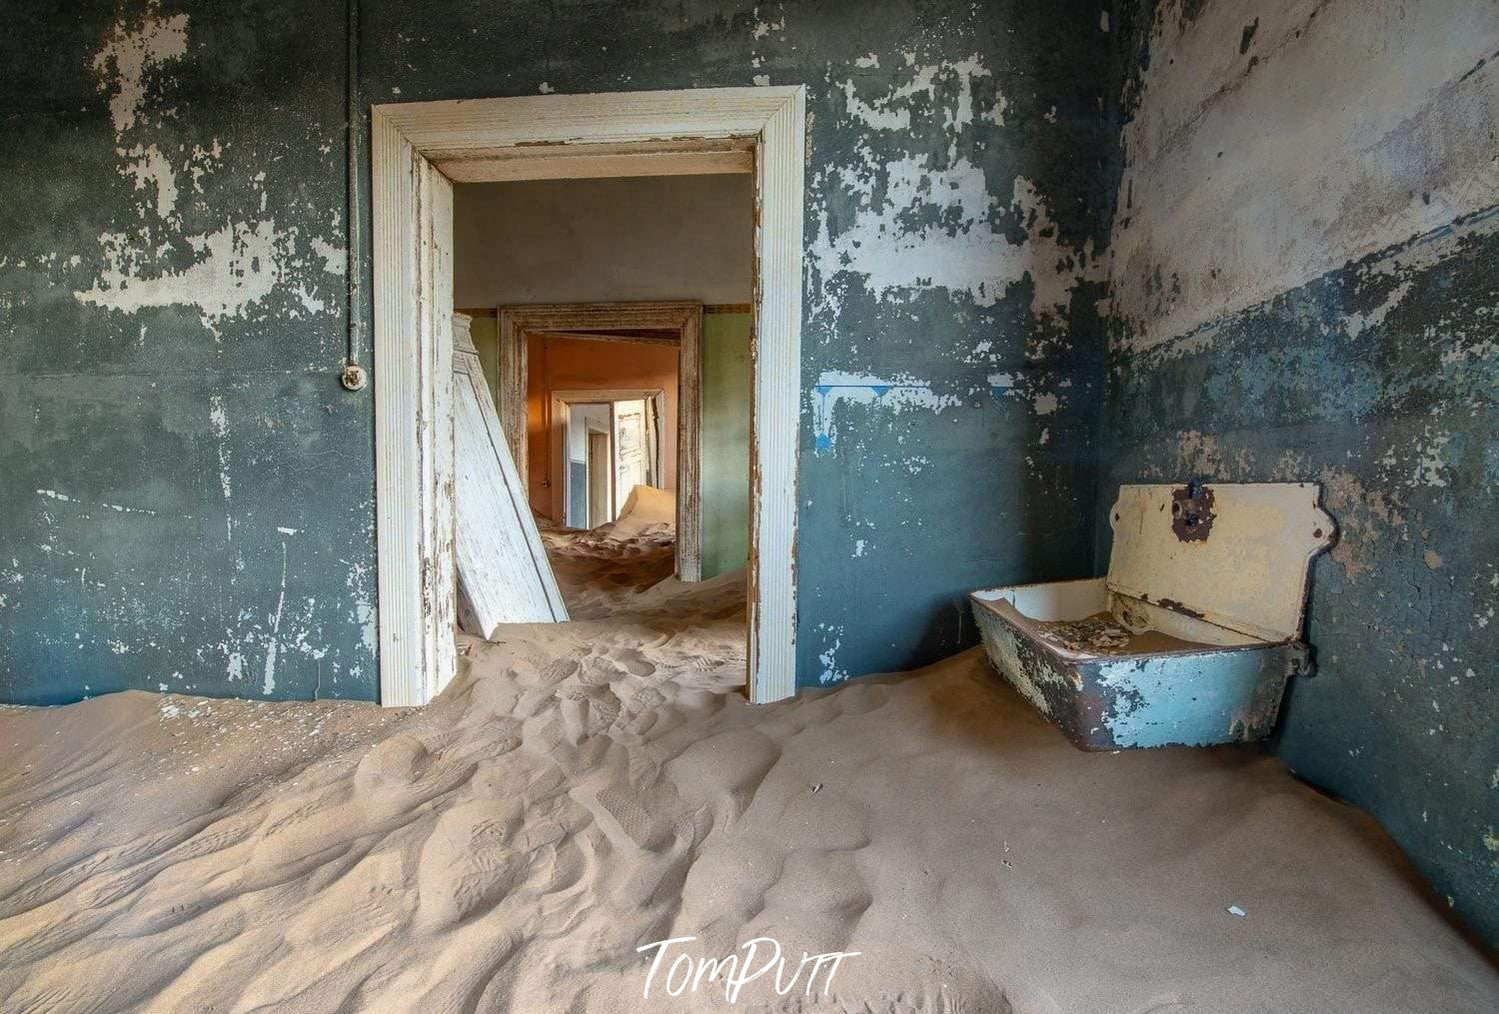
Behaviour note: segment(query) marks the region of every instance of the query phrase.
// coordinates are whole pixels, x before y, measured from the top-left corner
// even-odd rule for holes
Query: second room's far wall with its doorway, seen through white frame
[[[459,183],[454,237],[454,298],[568,615],[630,622],[670,576],[738,574],[744,600],[752,177]]]

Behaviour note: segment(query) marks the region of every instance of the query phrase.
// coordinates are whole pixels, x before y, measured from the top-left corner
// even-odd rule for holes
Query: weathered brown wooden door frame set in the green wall
[[[496,376],[499,424],[517,462],[526,453],[526,339],[538,332],[595,342],[676,345],[676,576],[703,579],[703,304],[670,303],[546,303],[501,306],[496,310]],[[661,330],[676,338],[631,338],[592,332]],[[547,435],[552,440],[552,435]],[[520,484],[531,489],[529,468]]]

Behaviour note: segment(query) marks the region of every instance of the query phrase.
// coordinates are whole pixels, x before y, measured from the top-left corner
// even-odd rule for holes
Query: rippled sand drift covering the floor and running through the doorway
[[[577,620],[466,642],[423,711],[0,710],[0,1010],[1499,1006],[1375,825],[1255,750],[1079,753],[974,652],[754,708],[742,580],[546,538]],[[675,936],[859,954],[643,999]]]

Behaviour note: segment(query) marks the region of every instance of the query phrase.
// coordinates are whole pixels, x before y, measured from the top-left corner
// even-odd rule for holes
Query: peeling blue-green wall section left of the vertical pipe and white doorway
[[[375,696],[342,8],[0,33],[0,699]]]

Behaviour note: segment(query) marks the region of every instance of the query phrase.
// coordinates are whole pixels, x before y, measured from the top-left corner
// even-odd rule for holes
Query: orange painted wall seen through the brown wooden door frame
[[[567,338],[526,340],[526,460],[535,510],[553,520],[562,518],[562,474],[567,468],[564,420],[547,418],[555,390],[660,387],[666,392],[661,465],[666,488],[676,489],[676,346]],[[552,484],[547,486],[546,480]]]

